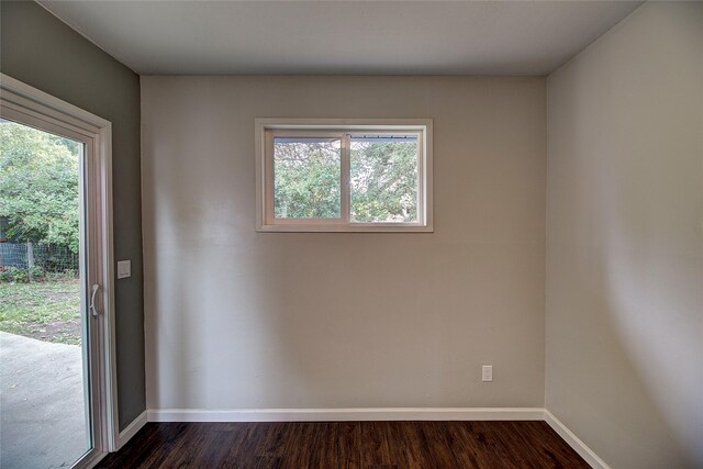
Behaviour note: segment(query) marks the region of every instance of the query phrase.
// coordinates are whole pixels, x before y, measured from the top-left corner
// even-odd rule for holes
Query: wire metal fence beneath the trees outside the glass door
[[[68,246],[35,243],[0,243],[0,270],[38,266],[46,272],[78,272],[78,254]]]

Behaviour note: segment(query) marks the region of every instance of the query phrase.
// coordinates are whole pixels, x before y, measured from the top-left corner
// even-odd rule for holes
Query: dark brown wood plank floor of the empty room
[[[544,422],[149,423],[100,468],[588,468]]]

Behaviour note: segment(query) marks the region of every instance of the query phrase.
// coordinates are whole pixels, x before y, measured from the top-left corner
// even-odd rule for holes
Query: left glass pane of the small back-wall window
[[[339,219],[342,141],[274,138],[274,216]]]

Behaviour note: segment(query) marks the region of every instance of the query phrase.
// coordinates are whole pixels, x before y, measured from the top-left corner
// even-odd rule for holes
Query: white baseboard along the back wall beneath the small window
[[[542,407],[159,409],[149,422],[542,421]]]

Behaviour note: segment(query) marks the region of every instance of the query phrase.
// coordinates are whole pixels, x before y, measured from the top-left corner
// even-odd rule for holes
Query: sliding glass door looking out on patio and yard
[[[100,439],[92,138],[2,114],[0,468],[71,467]]]

